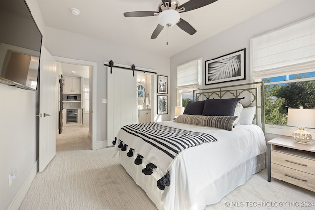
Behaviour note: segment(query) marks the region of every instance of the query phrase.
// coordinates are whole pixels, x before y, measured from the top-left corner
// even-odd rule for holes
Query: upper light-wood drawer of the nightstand
[[[315,175],[315,161],[277,151],[271,151],[271,162]]]

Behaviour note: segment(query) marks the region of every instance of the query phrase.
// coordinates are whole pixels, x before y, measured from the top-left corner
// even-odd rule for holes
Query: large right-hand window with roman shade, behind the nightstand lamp
[[[315,108],[315,16],[252,38],[251,71],[265,82],[266,131],[291,135],[287,109]]]

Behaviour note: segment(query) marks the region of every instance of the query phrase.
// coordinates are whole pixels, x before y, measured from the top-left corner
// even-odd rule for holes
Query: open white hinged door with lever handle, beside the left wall
[[[39,83],[39,171],[56,155],[57,62],[42,46]]]

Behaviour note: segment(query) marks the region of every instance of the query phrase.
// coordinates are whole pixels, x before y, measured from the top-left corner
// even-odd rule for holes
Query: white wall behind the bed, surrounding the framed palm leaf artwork
[[[243,23],[211,37],[170,59],[170,108],[174,116],[176,106],[176,66],[203,57],[204,61],[246,48],[246,80],[214,84],[204,88],[250,82],[250,38],[283,27],[315,14],[314,0],[287,0]]]

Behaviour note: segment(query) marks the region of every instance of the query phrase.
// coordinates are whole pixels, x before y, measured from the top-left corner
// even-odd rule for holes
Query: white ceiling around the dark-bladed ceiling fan
[[[188,0],[177,1],[183,4]],[[48,27],[172,56],[283,1],[218,0],[180,13],[197,30],[194,35],[173,26],[164,28],[156,39],[150,37],[158,25],[157,16],[126,18],[123,13],[158,11],[161,0],[38,0],[38,3]],[[71,8],[80,10],[80,15],[72,15]]]

